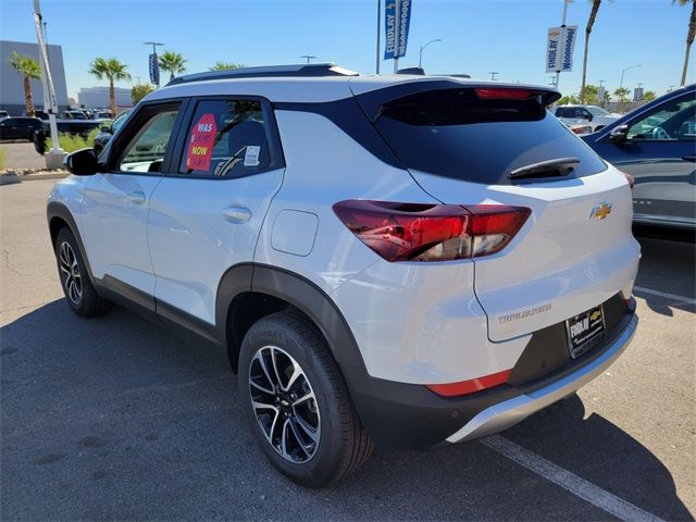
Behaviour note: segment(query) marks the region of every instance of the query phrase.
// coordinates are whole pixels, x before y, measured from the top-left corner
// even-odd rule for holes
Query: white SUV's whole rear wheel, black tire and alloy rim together
[[[336,482],[372,452],[336,362],[299,314],[275,313],[249,330],[239,356],[239,394],[261,449],[300,485]]]

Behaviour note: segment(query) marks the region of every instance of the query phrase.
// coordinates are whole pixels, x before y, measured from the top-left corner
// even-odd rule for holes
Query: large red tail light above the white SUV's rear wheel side
[[[423,204],[346,200],[334,212],[387,261],[451,261],[496,253],[531,210],[504,204]]]

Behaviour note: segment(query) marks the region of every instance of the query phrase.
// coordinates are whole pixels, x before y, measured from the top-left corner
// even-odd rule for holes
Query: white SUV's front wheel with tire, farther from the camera
[[[75,236],[66,226],[60,229],[55,238],[55,261],[65,300],[76,314],[92,318],[109,311],[112,302],[97,294]],[[70,274],[69,266],[72,269]]]

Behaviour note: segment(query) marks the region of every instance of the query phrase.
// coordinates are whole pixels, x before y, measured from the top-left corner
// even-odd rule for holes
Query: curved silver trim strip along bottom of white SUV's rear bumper
[[[634,315],[621,335],[597,359],[543,388],[486,408],[446,440],[461,443],[507,430],[532,413],[573,394],[600,375],[623,353],[633,339],[637,325],[638,318]]]

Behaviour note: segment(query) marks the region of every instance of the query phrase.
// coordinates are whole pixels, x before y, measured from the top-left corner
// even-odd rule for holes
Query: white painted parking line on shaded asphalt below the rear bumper
[[[626,502],[601,487],[594,485],[592,482],[581,478],[574,473],[556,465],[522,446],[518,446],[500,435],[482,438],[481,443],[576,497],[613,514],[620,520],[662,522],[661,519],[654,514],[648,513],[631,502]]]

